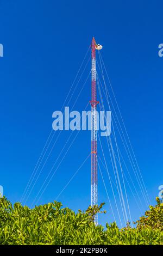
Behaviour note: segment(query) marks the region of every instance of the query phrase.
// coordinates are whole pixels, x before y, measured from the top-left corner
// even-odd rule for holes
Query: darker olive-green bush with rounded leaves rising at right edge
[[[140,217],[136,221],[137,229],[151,228],[163,231],[163,200],[156,197],[157,205],[149,206],[149,211],[145,212],[145,216]]]

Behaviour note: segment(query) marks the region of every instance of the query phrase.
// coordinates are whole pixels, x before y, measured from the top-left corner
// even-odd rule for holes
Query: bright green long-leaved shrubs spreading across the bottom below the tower
[[[161,203],[160,203],[161,204]],[[0,199],[1,245],[163,245],[163,231],[152,228],[119,229],[116,223],[95,226],[103,204],[77,214],[60,202],[29,209]],[[161,206],[162,207],[162,206]]]

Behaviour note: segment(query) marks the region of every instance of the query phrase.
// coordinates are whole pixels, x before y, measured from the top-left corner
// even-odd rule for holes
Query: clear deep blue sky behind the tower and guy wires
[[[0,1],[0,43],[4,46],[4,57],[0,58],[0,184],[11,202],[20,200],[52,129],[52,113],[60,110],[95,36],[103,45],[102,56],[112,87],[149,197],[155,203],[158,186],[163,183],[163,58],[158,56],[158,45],[163,43],[161,5],[160,1],[143,0]],[[90,100],[90,84],[89,78],[74,110],[81,111]],[[71,106],[81,86],[82,82]],[[29,206],[69,135],[62,132],[27,201]],[[55,199],[90,153],[90,139],[89,131],[80,132],[39,203]],[[87,208],[90,172],[88,160],[61,194],[59,200],[64,206]],[[112,197],[110,187],[108,190]],[[99,222],[111,222],[99,175],[100,202],[106,203],[108,213],[99,217]],[[136,220],[140,212],[132,198],[130,205]]]

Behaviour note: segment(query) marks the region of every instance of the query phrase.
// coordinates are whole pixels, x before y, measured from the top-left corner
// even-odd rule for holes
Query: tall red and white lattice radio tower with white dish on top
[[[102,46],[97,45],[95,38],[92,39],[92,129],[91,129],[91,206],[97,205],[97,113],[96,106],[99,103],[96,95],[96,50],[101,50]],[[95,216],[95,225],[98,224],[98,216]]]

